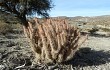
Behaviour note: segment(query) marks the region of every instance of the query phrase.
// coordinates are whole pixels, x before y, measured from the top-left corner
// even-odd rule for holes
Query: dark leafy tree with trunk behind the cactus
[[[53,7],[52,0],[1,0],[0,11],[9,13],[20,19],[23,26],[28,27],[27,17],[37,13],[49,17],[48,12]]]

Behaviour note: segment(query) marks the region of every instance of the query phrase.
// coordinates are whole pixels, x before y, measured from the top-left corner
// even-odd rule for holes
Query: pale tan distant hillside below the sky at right
[[[104,16],[94,16],[94,17],[82,17],[77,20],[73,21],[85,21],[88,24],[92,25],[110,25],[110,15],[104,15]]]

